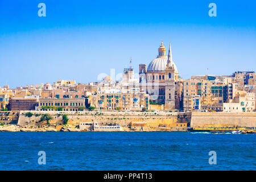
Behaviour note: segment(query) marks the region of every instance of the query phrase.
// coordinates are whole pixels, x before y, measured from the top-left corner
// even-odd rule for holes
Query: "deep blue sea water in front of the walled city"
[[[256,135],[176,132],[0,133],[1,170],[255,170]],[[46,152],[46,165],[38,152]],[[217,164],[210,165],[209,151]]]

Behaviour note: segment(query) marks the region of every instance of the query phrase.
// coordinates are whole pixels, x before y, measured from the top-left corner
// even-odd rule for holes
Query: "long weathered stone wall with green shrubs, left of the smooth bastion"
[[[25,114],[31,112],[32,117],[27,117]],[[37,115],[36,115],[37,114]],[[39,115],[40,114],[40,115]],[[80,122],[97,121],[100,124],[118,124],[130,125],[131,122],[146,122],[147,126],[157,127],[175,127],[175,123],[187,123],[190,116],[184,113],[164,113],[164,112],[72,112],[72,111],[21,111],[18,125],[36,124],[39,123],[43,114],[52,116],[51,124],[57,122],[62,123],[63,114],[67,114],[69,125],[79,125]],[[187,125],[186,125],[187,126]]]

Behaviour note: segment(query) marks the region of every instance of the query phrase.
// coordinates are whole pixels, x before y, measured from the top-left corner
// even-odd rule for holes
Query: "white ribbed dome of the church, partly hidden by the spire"
[[[172,61],[174,65],[175,72],[177,72],[176,65]],[[164,71],[167,65],[167,57],[158,57],[150,62],[147,67],[147,72],[154,72],[154,71]]]

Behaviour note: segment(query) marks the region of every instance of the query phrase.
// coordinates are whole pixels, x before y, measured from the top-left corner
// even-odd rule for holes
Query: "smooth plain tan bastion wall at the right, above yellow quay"
[[[256,113],[192,112],[191,127],[256,127]]]

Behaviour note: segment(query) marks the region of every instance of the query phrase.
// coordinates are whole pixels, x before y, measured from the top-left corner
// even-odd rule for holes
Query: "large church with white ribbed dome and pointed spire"
[[[148,64],[139,65],[139,82],[141,88],[150,95],[150,101],[155,104],[164,104],[164,109],[174,110],[175,86],[179,80],[177,67],[172,60],[171,44],[168,55],[163,41],[158,48],[158,56]]]

